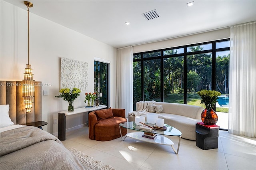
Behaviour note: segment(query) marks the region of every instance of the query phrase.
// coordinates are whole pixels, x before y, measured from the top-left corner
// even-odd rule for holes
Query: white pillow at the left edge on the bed
[[[13,125],[9,117],[9,105],[0,105],[0,128]]]

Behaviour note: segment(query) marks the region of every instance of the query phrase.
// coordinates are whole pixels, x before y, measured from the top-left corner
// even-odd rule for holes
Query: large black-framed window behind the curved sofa
[[[135,53],[134,108],[140,100],[205,107],[197,91],[207,89],[222,93],[216,111],[228,113],[229,44],[225,39]]]

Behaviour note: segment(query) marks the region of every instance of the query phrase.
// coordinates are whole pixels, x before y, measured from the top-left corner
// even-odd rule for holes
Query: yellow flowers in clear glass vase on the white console
[[[78,96],[80,96],[80,89],[74,87],[72,90],[68,88],[60,89],[60,95],[55,96],[56,98],[61,98],[64,101],[68,101],[68,112],[74,111],[73,102]]]

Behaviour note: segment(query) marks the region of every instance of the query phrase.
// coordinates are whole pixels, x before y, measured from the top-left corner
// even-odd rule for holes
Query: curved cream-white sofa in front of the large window
[[[136,103],[136,110],[138,109],[138,104],[139,102]],[[162,105],[164,109],[164,113],[157,113],[158,118],[163,118],[164,123],[180,130],[182,138],[196,140],[196,123],[202,122],[201,113],[204,110],[203,107],[165,102],[155,102],[154,105]],[[141,115],[145,117],[145,120],[146,113]],[[135,117],[129,115],[128,120],[135,121]]]

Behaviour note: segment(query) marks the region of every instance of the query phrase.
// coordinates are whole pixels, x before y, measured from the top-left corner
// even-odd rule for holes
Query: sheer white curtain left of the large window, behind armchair
[[[132,47],[117,49],[116,108],[132,111]]]

